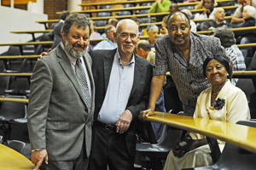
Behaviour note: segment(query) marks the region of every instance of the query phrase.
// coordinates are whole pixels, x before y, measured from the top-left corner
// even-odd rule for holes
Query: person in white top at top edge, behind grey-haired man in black
[[[204,0],[204,6],[206,10],[202,14],[196,13],[194,17],[195,20],[214,18],[214,0]]]

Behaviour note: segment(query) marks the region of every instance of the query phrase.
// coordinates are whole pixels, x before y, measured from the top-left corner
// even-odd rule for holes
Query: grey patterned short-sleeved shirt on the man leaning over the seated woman
[[[193,32],[190,34],[190,44],[188,63],[182,52],[171,42],[169,35],[158,38],[154,43],[154,76],[170,71],[179,98],[183,102],[184,114],[193,116],[197,97],[201,91],[211,86],[203,76],[203,62],[207,56],[218,54],[219,50],[224,49],[218,38]]]

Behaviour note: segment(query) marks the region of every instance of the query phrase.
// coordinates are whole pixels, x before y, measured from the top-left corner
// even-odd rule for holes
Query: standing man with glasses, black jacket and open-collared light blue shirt
[[[131,170],[136,123],[148,106],[153,65],[134,54],[139,40],[133,20],[120,20],[113,33],[118,48],[90,51],[96,82],[90,170]]]

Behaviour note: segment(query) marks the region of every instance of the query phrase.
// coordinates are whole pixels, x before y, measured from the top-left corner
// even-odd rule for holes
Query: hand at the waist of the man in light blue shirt
[[[120,117],[119,121],[115,124],[117,133],[125,133],[130,127],[132,120],[131,111],[126,110]]]

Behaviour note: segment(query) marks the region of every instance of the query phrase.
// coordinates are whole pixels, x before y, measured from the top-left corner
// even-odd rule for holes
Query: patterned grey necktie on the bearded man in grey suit
[[[84,94],[85,104],[86,104],[88,110],[90,110],[91,98],[90,98],[88,83],[87,83],[87,80],[86,80],[86,77],[85,77],[84,68],[81,64],[81,59],[77,59],[77,62],[76,62],[76,65],[75,65],[75,71],[76,71],[76,76],[77,76],[78,81],[79,81],[80,88],[81,88],[81,90]]]

